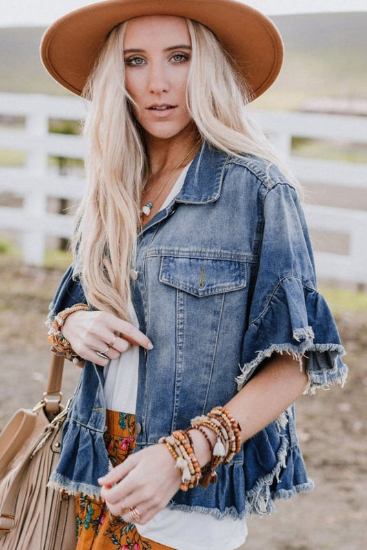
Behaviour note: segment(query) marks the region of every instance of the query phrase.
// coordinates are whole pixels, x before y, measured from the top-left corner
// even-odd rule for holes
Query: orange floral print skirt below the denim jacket
[[[135,447],[135,416],[107,410],[105,444],[114,466],[122,463]],[[78,495],[75,501],[76,550],[174,550],[140,537],[134,523],[109,513],[102,500]]]

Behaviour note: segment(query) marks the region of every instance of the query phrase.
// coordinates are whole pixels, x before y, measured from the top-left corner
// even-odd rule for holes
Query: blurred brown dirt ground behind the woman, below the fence
[[[43,325],[61,272],[25,268],[0,256],[0,429],[12,412],[39,400],[48,371]],[[277,514],[249,518],[246,550],[367,548],[367,312],[337,319],[350,367],[348,383],[297,404],[297,426],[316,488],[277,505]],[[78,368],[67,363],[64,394]],[[200,549],[198,549],[200,550]]]

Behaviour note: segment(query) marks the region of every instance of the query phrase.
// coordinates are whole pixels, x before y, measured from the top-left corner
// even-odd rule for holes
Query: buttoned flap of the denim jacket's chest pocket
[[[204,297],[244,288],[246,275],[246,262],[163,256],[159,280],[196,297]]]

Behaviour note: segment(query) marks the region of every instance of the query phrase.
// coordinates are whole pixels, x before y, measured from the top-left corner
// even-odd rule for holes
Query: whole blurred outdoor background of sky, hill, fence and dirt
[[[43,392],[48,304],[70,263],[83,193],[83,102],[45,73],[39,42],[88,1],[0,7],[0,429]],[[312,494],[249,519],[251,550],[366,548],[367,2],[258,0],[284,39],[282,73],[253,116],[305,189],[317,275],[348,352],[344,390],[306,396],[298,429]],[[65,394],[79,371],[65,366]]]

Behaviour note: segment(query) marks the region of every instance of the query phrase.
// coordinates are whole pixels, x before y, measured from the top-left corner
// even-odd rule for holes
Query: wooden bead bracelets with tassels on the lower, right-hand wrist
[[[209,428],[216,434],[216,444],[212,445],[211,440],[205,432],[204,427]],[[240,451],[241,436],[240,425],[233,419],[233,416],[223,407],[214,407],[207,415],[197,416],[191,420],[191,427],[187,430],[176,430],[167,437],[162,437],[159,443],[165,443],[171,455],[176,461],[176,467],[181,472],[182,491],[193,489],[198,483],[207,487],[209,483],[216,483],[216,468],[221,464],[229,464]],[[200,469],[198,460],[193,452],[193,442],[190,431],[198,430],[209,445],[211,460],[208,465]]]

